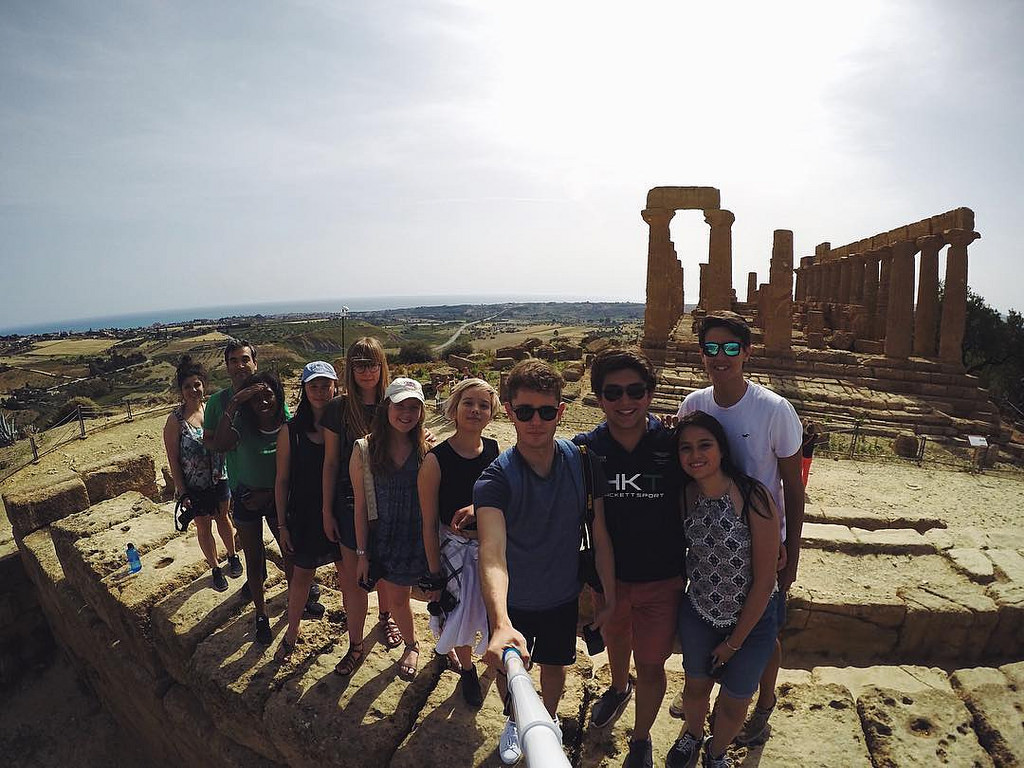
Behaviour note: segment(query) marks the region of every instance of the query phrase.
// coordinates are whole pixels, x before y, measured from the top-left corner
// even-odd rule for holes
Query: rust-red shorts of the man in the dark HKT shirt
[[[636,664],[663,665],[676,639],[683,578],[659,582],[615,581],[615,612],[604,627],[605,638],[630,634]]]

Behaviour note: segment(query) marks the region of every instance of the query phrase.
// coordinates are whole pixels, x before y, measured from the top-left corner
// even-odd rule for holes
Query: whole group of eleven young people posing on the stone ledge
[[[522,753],[502,655],[514,648],[540,667],[541,696],[557,726],[588,574],[590,629],[603,637],[611,673],[592,727],[607,726],[635,694],[625,765],[652,765],[650,729],[678,638],[685,685],[671,711],[686,725],[667,765],[693,766],[702,755],[706,766],[728,766],[734,739],[756,743],[770,732],[777,638],[800,554],[803,430],[784,398],[743,376],[751,336],[742,317],[708,315],[698,341],[712,385],[688,395],[675,419],[648,412],[656,386],[650,362],[609,349],[591,368],[604,421],[590,432],[556,437],[563,381],[547,362],[527,359],[510,372],[504,403],[481,379],[459,382],[444,404],[455,433],[439,444],[424,428],[420,384],[391,381],[375,339],[349,348],[343,391],[332,366],[307,365],[294,417],[275,377],[257,373],[255,347],[230,342],[231,386],[210,397],[205,414],[205,373],[188,359],[178,369],[182,406],[165,429],[175,490],[197,515],[216,589],[226,583],[211,520],[230,574],[242,572],[241,563],[232,565],[229,496],[254,638],[269,645],[266,520],[289,581],[279,660],[294,649],[303,615],[323,615],[313,574],[333,562],[348,633],[335,672],[350,675],[364,658],[368,592],[376,589],[382,640],[402,646],[396,672],[412,679],[420,645],[410,599],[420,586],[430,601],[434,650],[460,673],[467,703],[482,702],[474,653],[499,670],[505,764]],[[502,404],[516,432],[504,452],[482,436]],[[197,444],[211,457],[209,472],[181,458],[198,456]],[[582,542],[589,544],[583,551]],[[716,682],[720,695],[706,735]]]

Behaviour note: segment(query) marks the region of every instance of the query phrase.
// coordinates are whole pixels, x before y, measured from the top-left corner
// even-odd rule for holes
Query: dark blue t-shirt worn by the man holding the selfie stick
[[[530,469],[515,447],[504,456],[509,471],[503,470],[501,458],[483,470],[473,486],[473,505],[495,507],[505,515],[508,606],[546,610],[563,605],[580,596],[583,473],[572,471],[558,447],[547,477]],[[594,497],[601,498],[604,476],[596,460],[592,465]]]

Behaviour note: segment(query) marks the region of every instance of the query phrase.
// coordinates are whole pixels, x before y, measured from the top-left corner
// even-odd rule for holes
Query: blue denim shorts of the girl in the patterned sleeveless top
[[[725,665],[719,682],[726,695],[732,698],[750,698],[758,689],[761,673],[775,650],[780,601],[784,602],[782,593],[776,592],[771,596],[765,612],[746,636],[742,647]],[[679,605],[679,641],[683,646],[683,670],[686,677],[711,677],[709,668],[712,652],[730,633],[731,629],[717,629],[701,618],[690,604],[689,597],[683,595]]]

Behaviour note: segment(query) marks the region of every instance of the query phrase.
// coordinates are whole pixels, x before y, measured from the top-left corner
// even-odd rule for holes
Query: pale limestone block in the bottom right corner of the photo
[[[998,670],[957,670],[950,680],[974,715],[978,740],[996,765],[1024,765],[1024,692]]]

